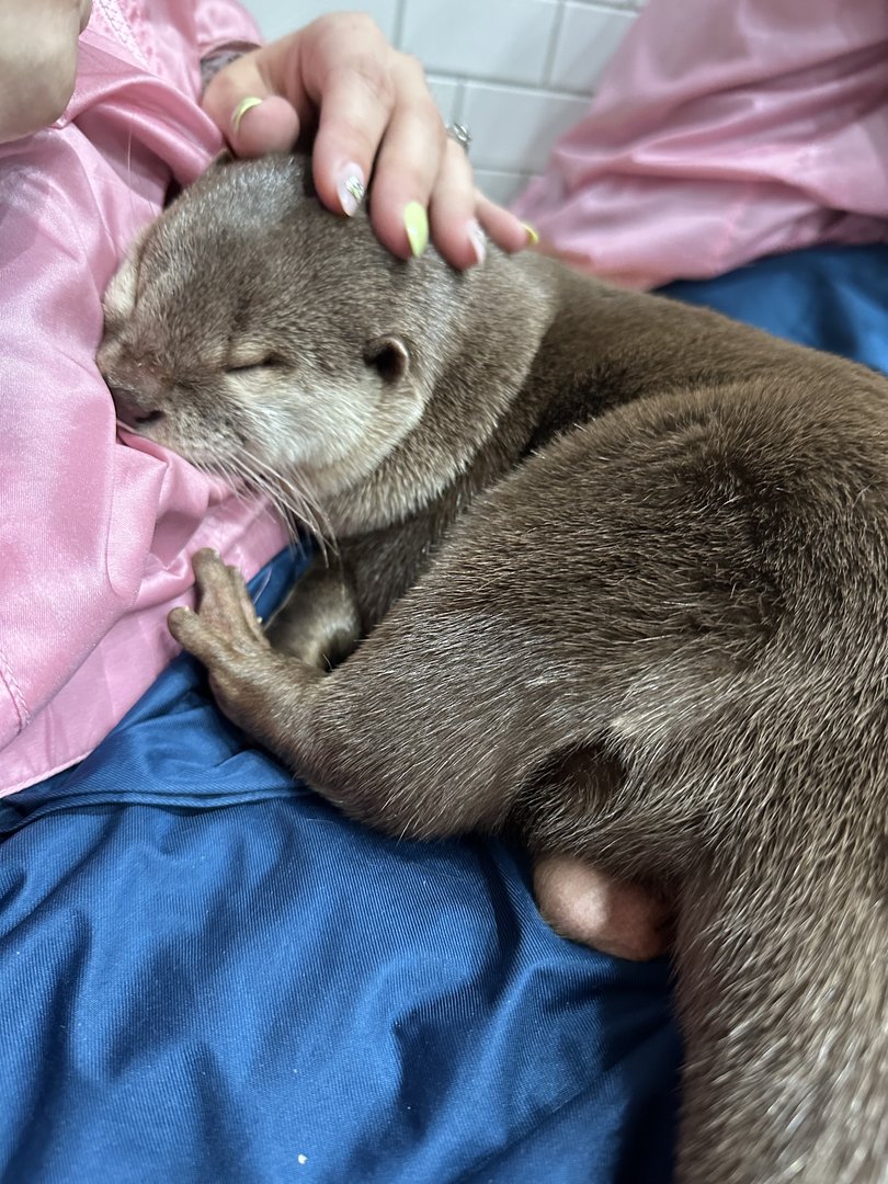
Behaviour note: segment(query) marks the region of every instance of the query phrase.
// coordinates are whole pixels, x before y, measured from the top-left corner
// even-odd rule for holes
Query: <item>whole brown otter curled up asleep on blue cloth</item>
[[[398,260],[295,156],[212,168],[105,311],[123,422],[335,540],[268,630],[194,558],[221,709],[390,835],[669,894],[681,1182],[888,1180],[888,380]]]

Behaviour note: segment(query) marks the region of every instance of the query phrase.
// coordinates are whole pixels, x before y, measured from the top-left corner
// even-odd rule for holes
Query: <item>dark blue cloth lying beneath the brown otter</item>
[[[886,275],[813,250],[671,291],[888,369]],[[669,1180],[665,960],[558,938],[500,842],[347,822],[187,657],[0,834],[4,1184]]]

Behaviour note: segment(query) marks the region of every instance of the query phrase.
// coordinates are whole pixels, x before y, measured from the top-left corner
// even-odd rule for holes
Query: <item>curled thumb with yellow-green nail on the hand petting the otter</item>
[[[204,110],[238,156],[289,152],[303,122],[311,117],[310,103],[296,84],[287,96],[277,90],[274,75],[287,73],[287,62],[298,49],[292,39],[284,41],[288,44],[253,50],[224,66],[204,94]]]

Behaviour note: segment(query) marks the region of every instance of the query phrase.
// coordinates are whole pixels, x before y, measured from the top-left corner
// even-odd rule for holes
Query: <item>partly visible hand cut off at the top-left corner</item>
[[[0,143],[39,131],[69,104],[92,0],[0,0]]]

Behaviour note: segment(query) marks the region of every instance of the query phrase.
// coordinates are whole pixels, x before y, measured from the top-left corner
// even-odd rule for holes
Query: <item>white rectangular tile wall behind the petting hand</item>
[[[246,0],[281,37],[327,12],[368,12],[414,53],[448,123],[471,130],[481,187],[509,201],[553,141],[588,108],[596,83],[645,0]]]

